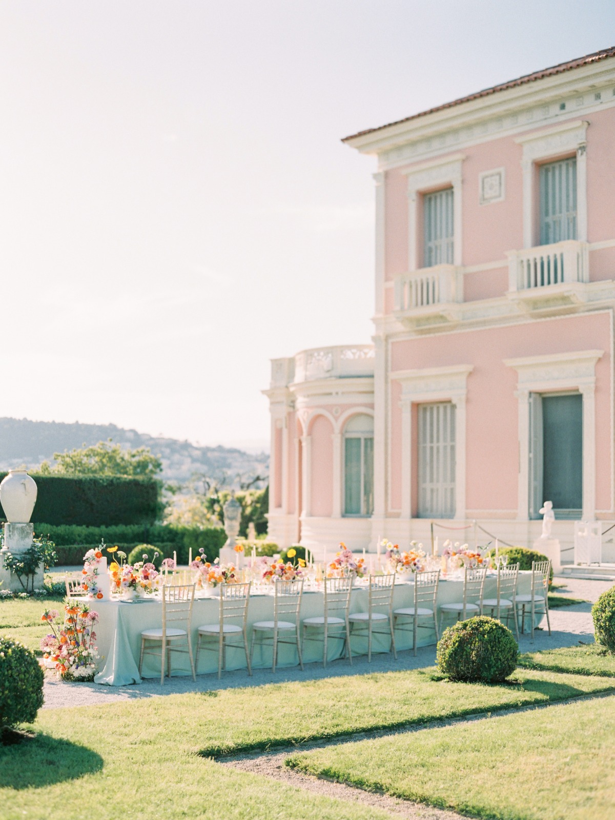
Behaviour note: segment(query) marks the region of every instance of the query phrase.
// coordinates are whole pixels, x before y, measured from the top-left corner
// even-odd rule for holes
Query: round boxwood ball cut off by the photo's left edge
[[[0,638],[0,729],[32,723],[43,705],[44,672],[19,640]]]

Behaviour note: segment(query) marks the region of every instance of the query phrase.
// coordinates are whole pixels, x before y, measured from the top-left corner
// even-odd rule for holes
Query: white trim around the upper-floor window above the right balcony
[[[576,239],[587,241],[587,126],[585,120],[555,125],[517,137],[523,149],[523,247],[535,246],[534,166],[565,153],[576,153]]]

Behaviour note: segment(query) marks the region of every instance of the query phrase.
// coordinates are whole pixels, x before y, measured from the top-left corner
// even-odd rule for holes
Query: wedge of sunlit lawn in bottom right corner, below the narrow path
[[[345,743],[303,772],[497,820],[612,820],[615,696]]]

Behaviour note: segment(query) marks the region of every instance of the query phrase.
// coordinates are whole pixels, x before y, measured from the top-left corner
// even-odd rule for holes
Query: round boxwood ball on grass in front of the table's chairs
[[[477,615],[444,630],[436,663],[451,681],[498,683],[517,668],[517,641],[493,617]]]

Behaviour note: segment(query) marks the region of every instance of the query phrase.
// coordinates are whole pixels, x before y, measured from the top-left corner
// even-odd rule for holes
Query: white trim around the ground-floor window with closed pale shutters
[[[455,518],[466,517],[467,377],[474,365],[426,367],[391,373],[402,385],[402,518],[412,515],[412,404],[446,402],[455,405]]]

